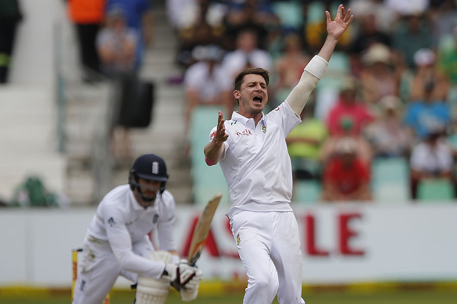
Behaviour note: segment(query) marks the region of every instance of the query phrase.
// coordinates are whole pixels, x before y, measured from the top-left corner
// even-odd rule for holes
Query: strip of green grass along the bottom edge
[[[130,304],[133,301],[133,292],[114,292],[111,296],[111,304]],[[348,293],[313,293],[303,294],[307,304],[455,304],[457,292],[452,291],[403,291],[384,292],[370,294],[348,294]],[[194,304],[235,304],[242,303],[242,294],[225,295],[218,297],[199,296],[190,303]],[[69,304],[70,295],[56,295],[52,298],[6,298],[0,294],[0,304]],[[170,293],[167,304],[183,303],[175,292]],[[276,299],[273,301],[277,303]]]

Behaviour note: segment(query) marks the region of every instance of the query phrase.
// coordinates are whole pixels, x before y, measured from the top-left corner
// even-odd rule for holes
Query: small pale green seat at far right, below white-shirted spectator
[[[454,186],[448,179],[422,180],[417,186],[417,200],[424,202],[450,201],[455,197]]]

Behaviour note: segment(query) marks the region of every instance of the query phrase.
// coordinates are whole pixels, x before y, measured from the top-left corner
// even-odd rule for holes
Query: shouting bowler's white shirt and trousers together
[[[234,112],[225,121],[227,140],[219,160],[230,192],[226,215],[246,267],[244,303],[299,304],[302,255],[290,207],[292,168],[285,138],[301,122],[287,102],[254,124]],[[210,141],[217,127],[210,133]]]

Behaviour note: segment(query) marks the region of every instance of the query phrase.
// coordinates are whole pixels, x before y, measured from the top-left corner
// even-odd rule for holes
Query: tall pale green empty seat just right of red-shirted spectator
[[[375,159],[372,190],[376,202],[406,203],[409,200],[409,165],[405,158]]]

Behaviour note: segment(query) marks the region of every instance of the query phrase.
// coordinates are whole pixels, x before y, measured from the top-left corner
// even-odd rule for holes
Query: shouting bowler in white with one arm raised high
[[[205,146],[209,166],[219,162],[230,193],[226,215],[248,276],[244,304],[304,304],[298,225],[290,199],[292,168],[285,138],[300,122],[309,94],[327,68],[341,35],[352,21],[350,9],[327,16],[327,39],[305,67],[298,85],[276,109],[264,115],[268,71],[250,68],[235,78],[238,112],[218,123]]]

